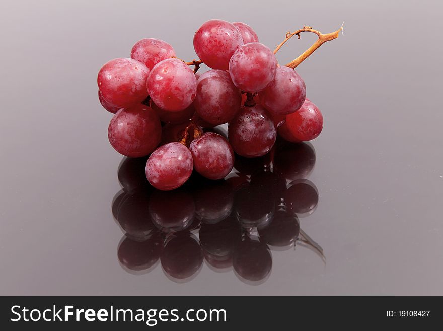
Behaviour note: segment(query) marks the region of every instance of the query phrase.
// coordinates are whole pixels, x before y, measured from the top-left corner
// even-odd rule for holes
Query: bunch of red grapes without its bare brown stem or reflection
[[[125,156],[150,155],[145,174],[154,187],[178,188],[193,170],[224,178],[235,153],[261,157],[277,134],[290,142],[320,134],[323,117],[306,99],[305,82],[278,65],[251,27],[209,20],[195,33],[194,49],[200,60],[186,63],[165,41],[142,39],[131,58],[113,59],[98,74],[100,103],[115,114],[109,141]],[[201,63],[212,69],[200,75]],[[225,123],[228,139],[208,131]]]

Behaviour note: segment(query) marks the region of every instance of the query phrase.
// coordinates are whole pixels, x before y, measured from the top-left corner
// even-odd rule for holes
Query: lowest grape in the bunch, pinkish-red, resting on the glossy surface
[[[169,191],[183,185],[192,174],[193,161],[189,149],[180,143],[160,146],[147,159],[146,178],[151,185]]]

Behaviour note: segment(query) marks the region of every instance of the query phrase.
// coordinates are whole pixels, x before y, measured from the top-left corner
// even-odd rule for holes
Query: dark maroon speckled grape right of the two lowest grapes
[[[242,107],[229,123],[228,137],[234,151],[244,157],[268,153],[277,137],[274,123],[261,106]]]

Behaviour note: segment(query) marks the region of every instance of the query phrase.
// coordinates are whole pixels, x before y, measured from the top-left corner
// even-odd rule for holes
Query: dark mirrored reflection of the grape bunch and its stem
[[[118,170],[123,190],[112,203],[125,233],[118,259],[128,272],[150,272],[160,261],[167,277],[181,283],[196,277],[205,261],[216,272],[233,270],[240,280],[260,284],[272,268],[271,250],[309,245],[321,255],[300,228],[319,198],[306,179],[315,164],[309,143],[278,140],[265,157],[238,157],[226,180],[193,174],[168,192],[140,181],[145,163],[124,159]]]

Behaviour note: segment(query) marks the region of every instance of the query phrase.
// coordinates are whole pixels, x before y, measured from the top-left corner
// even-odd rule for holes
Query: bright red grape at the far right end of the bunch
[[[317,138],[323,129],[323,115],[311,101],[286,116],[286,121],[278,128],[278,133],[290,142],[308,141]]]

